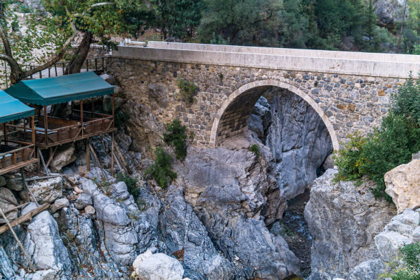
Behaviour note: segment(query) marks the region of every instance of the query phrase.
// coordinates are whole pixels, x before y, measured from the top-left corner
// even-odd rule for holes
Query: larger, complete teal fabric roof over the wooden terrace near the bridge
[[[18,82],[7,93],[27,104],[52,105],[114,93],[95,72]]]

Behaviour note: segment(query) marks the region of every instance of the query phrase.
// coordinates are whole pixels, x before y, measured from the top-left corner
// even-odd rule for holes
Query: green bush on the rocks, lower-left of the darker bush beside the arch
[[[165,153],[165,151],[159,147],[154,150],[156,159],[152,165],[146,170],[145,176],[151,175],[156,183],[165,189],[168,184],[172,183],[176,179],[176,173],[171,170],[172,167],[172,156]]]

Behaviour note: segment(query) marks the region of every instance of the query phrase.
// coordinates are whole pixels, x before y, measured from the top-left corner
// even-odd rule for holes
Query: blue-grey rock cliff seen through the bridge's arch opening
[[[285,197],[291,199],[303,193],[316,178],[318,168],[333,150],[331,138],[318,113],[299,95],[275,88],[266,96],[270,106],[264,97],[260,97],[256,106],[265,106],[271,111],[270,126],[263,142],[274,156],[279,172],[277,184]],[[268,117],[262,118],[261,130],[267,130],[264,128],[266,119]]]

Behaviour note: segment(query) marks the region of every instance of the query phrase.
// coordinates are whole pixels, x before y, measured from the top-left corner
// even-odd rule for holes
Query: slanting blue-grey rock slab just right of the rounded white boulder
[[[170,209],[159,215],[165,253],[178,253],[178,257],[183,259],[185,277],[235,279],[235,266],[215,250],[207,230],[175,186],[167,190],[165,204],[171,205]]]

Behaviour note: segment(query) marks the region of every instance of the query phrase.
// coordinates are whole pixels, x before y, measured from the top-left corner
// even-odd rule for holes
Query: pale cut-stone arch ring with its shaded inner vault
[[[327,115],[325,115],[323,109],[320,108],[310,95],[307,95],[307,93],[291,84],[270,79],[257,80],[244,84],[224,100],[213,121],[210,145],[215,147],[223,143],[224,140],[229,139],[229,137],[244,132],[248,127],[248,119],[257,100],[273,86],[286,89],[299,95],[307,104],[314,108],[327,127],[334,150],[340,148],[334,126],[331,124],[331,121],[329,121]]]

